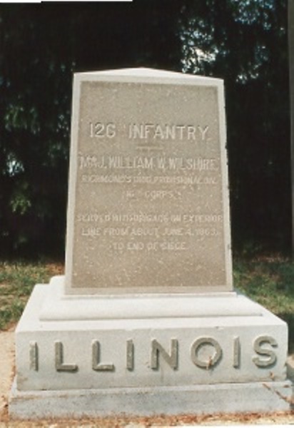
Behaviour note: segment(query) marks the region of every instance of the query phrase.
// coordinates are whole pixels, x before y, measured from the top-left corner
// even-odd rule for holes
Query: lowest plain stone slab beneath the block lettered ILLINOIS
[[[14,419],[270,413],[289,410],[290,392],[289,381],[30,392],[14,383],[9,413]]]

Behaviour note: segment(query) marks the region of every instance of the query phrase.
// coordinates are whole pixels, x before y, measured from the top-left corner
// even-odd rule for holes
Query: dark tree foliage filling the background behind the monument
[[[233,238],[290,236],[285,0],[1,4],[0,248],[64,249],[74,71],[225,79]]]

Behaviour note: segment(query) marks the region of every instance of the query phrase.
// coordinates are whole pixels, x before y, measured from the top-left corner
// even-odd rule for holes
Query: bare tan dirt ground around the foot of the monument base
[[[294,411],[265,414],[245,414],[245,415],[214,415],[196,417],[182,415],[179,417],[141,417],[141,418],[97,418],[74,420],[46,420],[38,422],[9,421],[8,397],[11,382],[14,377],[14,329],[8,332],[0,332],[0,428],[67,428],[67,427],[87,427],[87,428],[145,428],[145,427],[183,427],[193,425],[236,425],[236,424],[283,424],[294,425]],[[289,360],[288,377],[294,381],[294,355]]]

